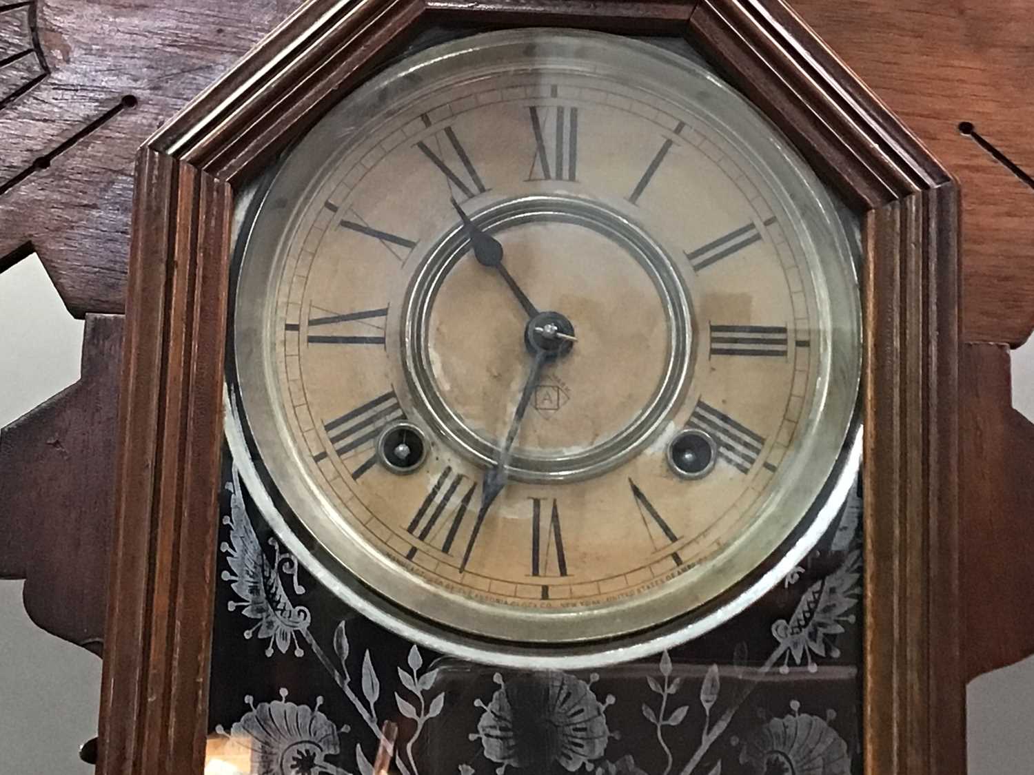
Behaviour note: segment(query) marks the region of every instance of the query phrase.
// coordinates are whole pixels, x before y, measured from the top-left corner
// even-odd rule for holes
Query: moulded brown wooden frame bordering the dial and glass
[[[865,771],[957,771],[957,192],[947,174],[778,0],[314,0],[138,160],[99,772],[202,768],[232,189],[417,22],[686,35],[864,213],[866,606],[885,612],[865,623]]]

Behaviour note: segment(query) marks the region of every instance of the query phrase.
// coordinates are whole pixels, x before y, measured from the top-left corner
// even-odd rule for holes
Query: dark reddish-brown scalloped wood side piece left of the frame
[[[87,315],[82,377],[0,431],[0,578],[25,579],[25,610],[58,638],[100,654],[121,315]]]

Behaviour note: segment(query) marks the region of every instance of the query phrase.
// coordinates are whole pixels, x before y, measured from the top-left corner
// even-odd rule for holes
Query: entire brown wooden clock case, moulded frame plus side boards
[[[1016,163],[971,125],[959,131],[963,119],[991,127],[1020,163],[1034,150],[1034,111],[1022,98],[1025,3],[793,2],[962,180],[965,299],[956,186],[783,3],[306,5],[140,154],[121,348],[130,433],[107,634],[130,190],[119,169],[293,3],[235,0],[207,16],[207,0],[181,0],[153,9],[153,20],[143,8],[133,24],[158,35],[175,27],[193,41],[147,53],[128,14],[124,29],[102,24],[103,2],[72,11],[55,0],[38,20],[36,5],[0,6],[0,43],[9,42],[5,22],[24,10],[42,69],[28,87],[13,81],[14,67],[0,69],[0,136],[13,149],[0,175],[0,270],[38,249],[69,309],[87,315],[87,333],[80,383],[0,435],[0,574],[27,578],[26,607],[40,626],[97,652],[105,642],[103,772],[200,771],[208,633],[196,625],[211,621],[206,488],[217,465],[232,191],[427,23],[688,35],[866,212],[865,311],[876,336],[866,342],[865,584],[887,612],[865,624],[866,771],[964,770],[966,681],[1034,651],[1023,595],[1034,575],[1025,529],[1034,426],[1010,406],[1007,349],[1034,323],[1034,199]],[[91,34],[132,66],[93,90],[97,117],[92,97],[54,114],[52,85],[85,83],[90,68],[114,72],[87,56],[104,49]],[[288,41],[299,45],[277,56]],[[58,58],[62,47],[77,56]],[[93,206],[98,190],[108,193]]]

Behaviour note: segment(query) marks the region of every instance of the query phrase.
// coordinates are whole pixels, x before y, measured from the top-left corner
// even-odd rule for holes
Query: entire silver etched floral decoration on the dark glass
[[[382,651],[366,631],[371,625],[353,612],[345,612],[332,642],[322,644],[317,634],[328,630],[313,633],[309,609],[295,602],[295,595],[305,591],[299,584],[298,562],[275,539],[268,547],[260,544],[245,510],[236,469],[226,491],[229,514],[222,518],[226,540],[220,552],[229,565],[222,579],[236,595],[230,610],[253,620],[244,637],[268,639],[267,655],[279,658],[279,652],[284,659],[295,661],[287,655],[294,647],[294,655],[308,654],[317,660],[336,684],[332,690],[340,690],[347,701],[343,712],[352,723],[335,727],[320,710],[320,699],[308,707],[287,702],[285,690],[281,690],[279,701],[260,705],[248,696],[250,711],[233,724],[227,739],[236,744],[239,738],[251,751],[249,775],[348,775],[337,763],[357,775],[385,771],[420,775],[421,767],[433,772],[448,772],[453,767],[451,771],[457,775],[485,775],[492,767],[498,775],[511,768],[541,775],[561,768],[591,775],[721,775],[723,764],[727,771],[732,766],[739,775],[850,773],[848,746],[831,726],[831,712],[823,720],[799,713],[797,703],[791,704],[792,714],[785,717],[771,718],[764,711],[763,718],[770,720],[756,726],[746,739],[730,737],[730,724],[752,710],[761,711],[754,691],[770,671],[785,673],[791,663],[807,663],[815,671],[816,660],[840,655],[835,640],[855,621],[852,609],[860,593],[859,520],[853,510],[849,515],[852,519],[842,520],[835,534],[839,547],[850,547],[833,552],[840,566],[808,587],[791,616],[772,624],[777,643],[763,646],[753,663],[748,660],[746,643],[736,644],[730,663],[710,664],[705,671],[696,665],[676,667],[667,652],[660,656],[653,671],[647,671],[652,675],[645,676],[643,689],[649,689],[642,692],[645,702],[640,705],[637,701],[629,709],[634,712],[638,708],[642,717],[628,732],[642,736],[627,738],[633,747],[619,752],[626,755],[614,761],[606,757],[609,740],[618,735],[611,732],[613,714],[607,718],[614,698],[608,694],[601,699],[594,688],[598,675],[584,681],[558,672],[513,673],[506,679],[496,673],[496,687],[488,689],[491,696],[475,703],[482,712],[477,732],[468,736],[480,743],[475,749],[480,748],[491,764],[480,757],[456,764],[440,761],[443,735],[454,734],[449,725],[466,713],[450,716],[455,710],[449,701],[455,704],[455,696],[444,689],[453,684],[438,680],[438,664],[425,661],[425,654],[412,644],[405,644],[407,652],[397,651],[394,644]],[[796,568],[785,586],[793,586],[801,576]],[[397,663],[385,659],[385,654],[396,653],[406,656]],[[640,713],[630,713],[625,720],[631,724],[633,716]],[[643,718],[648,725],[643,724]],[[462,732],[468,731],[464,724]],[[349,734],[340,740],[343,732]],[[423,738],[431,743],[423,741],[421,745]],[[722,741],[731,746],[722,745]],[[659,751],[651,752],[650,745],[660,746],[664,758],[647,772],[633,754],[652,768],[647,764],[649,756]],[[429,750],[436,752],[433,762],[424,761]],[[731,761],[737,752],[738,767]]]

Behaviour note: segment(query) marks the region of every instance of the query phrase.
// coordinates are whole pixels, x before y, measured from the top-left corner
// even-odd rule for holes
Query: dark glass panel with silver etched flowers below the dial
[[[569,674],[445,657],[357,615],[285,552],[227,463],[206,775],[860,773],[859,495],[735,619]]]

